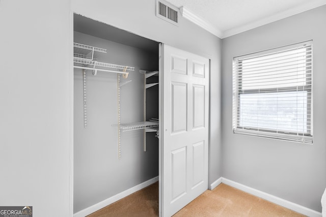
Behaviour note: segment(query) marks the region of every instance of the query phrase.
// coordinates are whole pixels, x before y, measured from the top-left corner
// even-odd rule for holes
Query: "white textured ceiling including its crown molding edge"
[[[178,8],[183,7],[183,16],[185,12],[191,13],[191,16],[185,17],[191,17],[190,20],[202,27],[206,26],[204,28],[220,38],[326,5],[326,0],[167,0],[167,2]]]

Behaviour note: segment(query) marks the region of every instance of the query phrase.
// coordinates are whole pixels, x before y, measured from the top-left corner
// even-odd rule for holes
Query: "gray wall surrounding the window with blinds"
[[[326,187],[326,6],[226,39],[222,44],[223,177],[321,211]],[[232,58],[313,40],[314,144],[232,134]]]

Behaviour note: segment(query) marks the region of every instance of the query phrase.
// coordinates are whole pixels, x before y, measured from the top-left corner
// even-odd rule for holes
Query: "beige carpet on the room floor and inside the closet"
[[[158,182],[88,216],[158,216]],[[305,215],[242,192],[222,183],[213,191],[205,191],[173,216],[286,217]]]

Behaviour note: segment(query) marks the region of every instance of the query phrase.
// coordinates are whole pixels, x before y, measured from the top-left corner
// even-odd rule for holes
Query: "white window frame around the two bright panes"
[[[273,55],[277,52],[286,52],[293,50],[294,48],[300,48],[307,46],[310,48],[308,50],[306,48],[306,62],[311,58],[311,63],[305,66],[305,85],[297,85],[293,83],[292,86],[288,87],[275,87],[275,88],[264,88],[264,89],[242,89],[242,69],[238,70],[239,66],[242,66],[242,61],[249,58],[257,58],[263,55]],[[310,54],[309,54],[310,53]],[[307,57],[307,56],[311,57]],[[236,65],[236,66],[235,66]],[[311,72],[310,76],[307,76]],[[233,133],[234,134],[244,134],[249,136],[258,136],[258,137],[266,137],[273,139],[281,139],[281,140],[289,140],[295,142],[303,142],[303,143],[313,143],[313,46],[312,40],[302,43],[296,43],[288,46],[283,46],[275,49],[268,49],[264,51],[259,51],[251,54],[241,55],[233,58]],[[239,87],[240,86],[240,87]],[[296,90],[293,90],[293,87]],[[298,132],[298,131],[282,131],[275,129],[261,129],[249,126],[241,126],[241,114],[240,114],[240,96],[246,94],[260,94],[260,93],[275,93],[279,92],[307,92],[307,118],[306,118],[306,126],[307,132]],[[308,103],[310,101],[310,103]],[[257,107],[259,108],[259,107]],[[309,121],[310,120],[310,121]],[[310,125],[308,124],[310,122]]]

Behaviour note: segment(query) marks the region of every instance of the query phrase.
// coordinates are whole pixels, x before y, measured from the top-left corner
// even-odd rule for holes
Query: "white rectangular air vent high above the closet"
[[[167,2],[156,1],[156,16],[175,25],[178,25],[178,10],[177,7]]]

